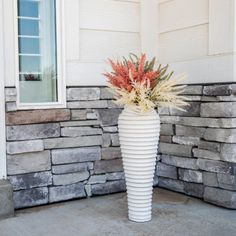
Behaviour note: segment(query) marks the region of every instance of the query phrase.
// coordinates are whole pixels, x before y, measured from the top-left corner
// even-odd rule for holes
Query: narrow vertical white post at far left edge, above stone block
[[[3,29],[3,1],[0,1],[0,32]],[[5,72],[4,72],[4,41],[0,34],[0,179],[6,179],[6,134],[5,134]]]

